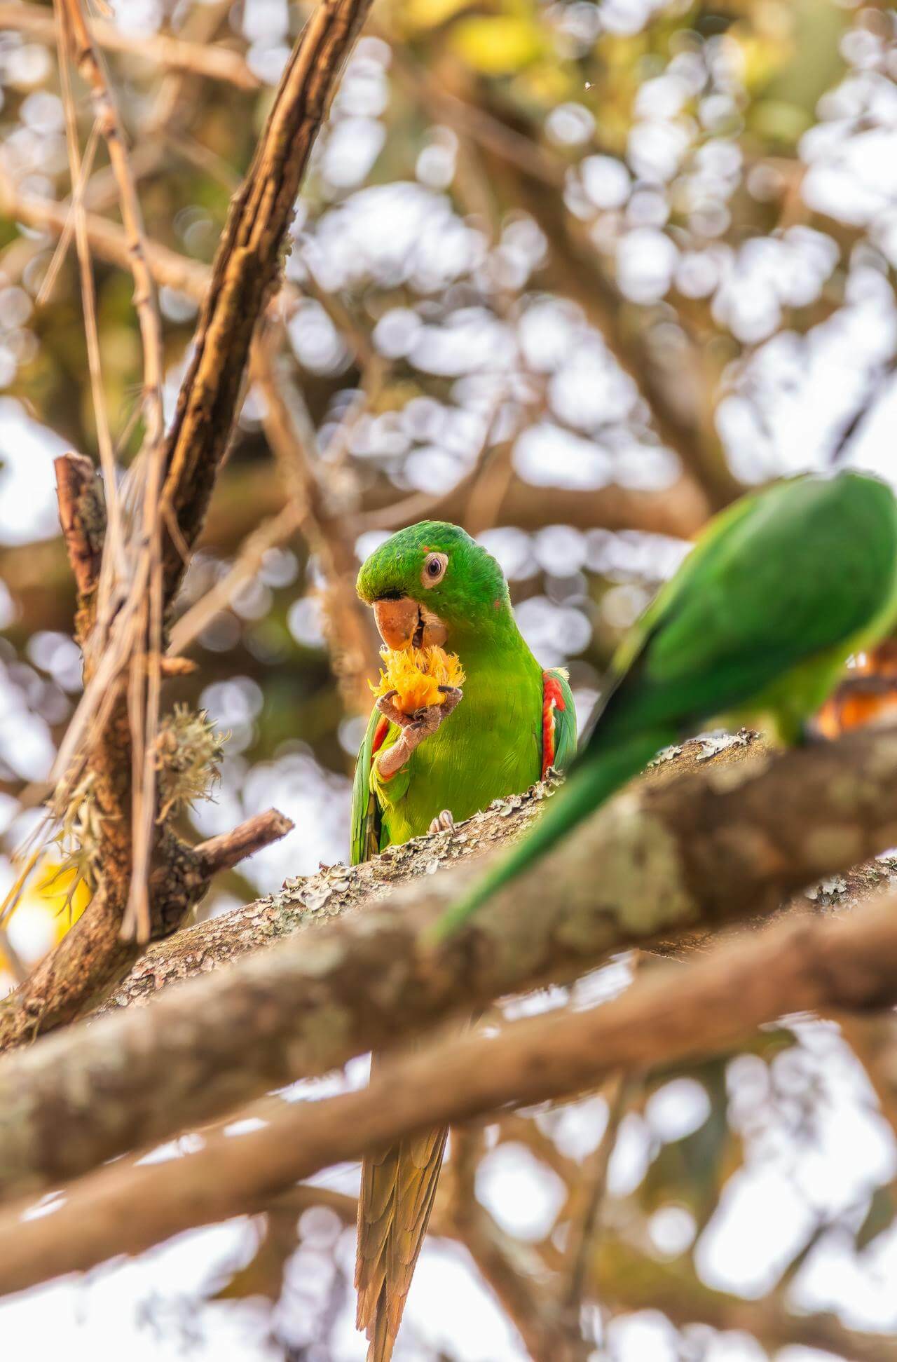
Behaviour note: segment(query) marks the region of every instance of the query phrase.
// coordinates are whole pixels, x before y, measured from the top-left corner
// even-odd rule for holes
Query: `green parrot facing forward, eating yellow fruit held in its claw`
[[[362,565],[358,595],[389,648],[445,644],[464,667],[463,695],[412,715],[377,700],[355,765],[353,865],[387,846],[471,817],[527,790],[576,750],[564,671],[543,671],[520,633],[497,561],[464,530],[425,520],[393,534]],[[358,1328],[369,1362],[388,1362],[426,1233],[446,1130],[362,1163]]]

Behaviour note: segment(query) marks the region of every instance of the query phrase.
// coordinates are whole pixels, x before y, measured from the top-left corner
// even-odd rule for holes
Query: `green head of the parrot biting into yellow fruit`
[[[512,620],[493,556],[445,520],[421,520],[374,549],[358,573],[358,595],[373,606],[391,648],[446,643],[457,651]]]

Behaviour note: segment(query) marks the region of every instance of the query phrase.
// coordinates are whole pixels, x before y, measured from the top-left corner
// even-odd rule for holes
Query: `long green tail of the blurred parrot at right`
[[[551,798],[535,827],[457,903],[446,908],[427,933],[427,940],[437,945],[453,936],[497,889],[539,861],[672,741],[675,734],[655,730],[626,740],[617,738],[613,745],[588,752],[574,764],[564,789]]]

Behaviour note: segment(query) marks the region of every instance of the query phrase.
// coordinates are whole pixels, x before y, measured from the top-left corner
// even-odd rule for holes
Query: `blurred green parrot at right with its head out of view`
[[[535,828],[436,923],[445,940],[648,761],[709,720],[785,745],[848,658],[897,624],[897,501],[859,473],[740,497],[706,527],[623,640],[565,787]]]

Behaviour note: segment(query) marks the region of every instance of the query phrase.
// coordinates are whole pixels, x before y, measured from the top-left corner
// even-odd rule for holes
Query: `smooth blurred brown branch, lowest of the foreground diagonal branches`
[[[358,1092],[268,1100],[256,1113],[265,1121],[260,1129],[207,1132],[197,1154],[166,1163],[101,1169],[69,1188],[49,1216],[23,1220],[27,1207],[19,1204],[0,1215],[0,1291],[250,1212],[299,1178],[431,1125],[568,1096],[617,1069],[719,1053],[783,1012],[894,1001],[894,900],[841,921],[785,919],[697,963],[652,971],[592,1011],[441,1041],[391,1064]]]

